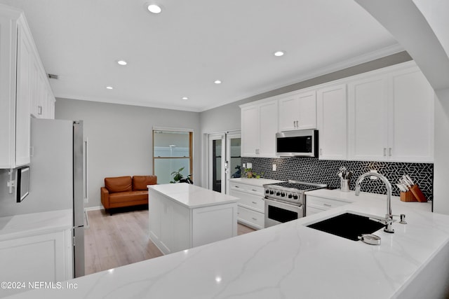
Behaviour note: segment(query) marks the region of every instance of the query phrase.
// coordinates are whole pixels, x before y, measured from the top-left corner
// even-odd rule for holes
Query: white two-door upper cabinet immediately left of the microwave
[[[276,158],[278,102],[241,105],[242,157]]]

